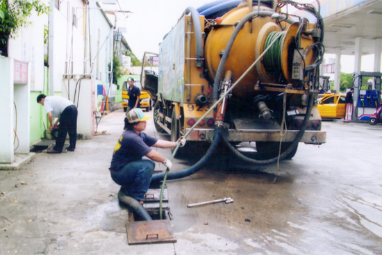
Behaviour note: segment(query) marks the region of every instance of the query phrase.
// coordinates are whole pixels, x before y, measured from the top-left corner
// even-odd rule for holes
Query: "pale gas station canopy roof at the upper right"
[[[319,0],[324,19],[325,52],[355,54],[355,39],[363,38],[362,55],[374,54],[375,40],[382,38],[381,0]],[[317,3],[313,3],[317,6]]]

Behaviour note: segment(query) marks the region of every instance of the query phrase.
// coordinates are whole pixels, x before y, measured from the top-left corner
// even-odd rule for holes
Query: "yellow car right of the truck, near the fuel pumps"
[[[322,96],[322,97],[321,97]],[[342,119],[345,116],[344,94],[319,94],[317,108],[323,119]]]

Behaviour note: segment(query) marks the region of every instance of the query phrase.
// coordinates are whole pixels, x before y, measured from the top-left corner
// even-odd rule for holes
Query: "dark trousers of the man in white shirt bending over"
[[[55,151],[62,151],[65,145],[65,138],[69,133],[69,147],[76,148],[77,141],[77,108],[72,104],[67,106],[60,116],[60,126],[58,126],[58,135],[56,139],[56,146],[53,147]]]

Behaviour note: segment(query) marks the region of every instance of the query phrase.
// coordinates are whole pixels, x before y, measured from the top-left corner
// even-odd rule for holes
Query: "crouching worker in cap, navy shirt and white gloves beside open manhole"
[[[180,147],[185,145],[185,138],[177,142],[157,140],[143,131],[151,116],[144,115],[141,108],[134,108],[126,113],[124,133],[115,145],[110,164],[111,178],[121,186],[121,191],[143,203],[144,194],[149,190],[155,163],[163,163],[169,170],[171,161],[150,147],[174,148],[177,142]],[[142,159],[147,156],[149,159]]]

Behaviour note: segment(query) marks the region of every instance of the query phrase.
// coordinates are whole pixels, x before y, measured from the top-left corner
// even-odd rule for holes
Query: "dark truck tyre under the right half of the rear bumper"
[[[292,142],[283,142],[281,145],[281,153],[288,149]],[[256,150],[263,159],[274,158],[279,155],[280,142],[256,142]],[[296,155],[297,147],[288,154],[284,159],[292,159]]]

